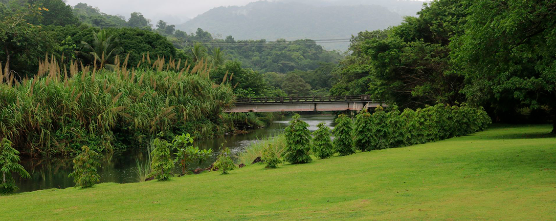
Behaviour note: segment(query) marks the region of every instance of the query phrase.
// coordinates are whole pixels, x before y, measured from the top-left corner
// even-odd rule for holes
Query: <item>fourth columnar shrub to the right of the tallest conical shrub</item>
[[[373,129],[371,133],[373,134],[373,139],[371,142],[371,148],[373,150],[386,149],[390,145],[390,138],[392,137],[392,128],[388,124],[388,114],[384,112],[383,107],[377,107],[375,113],[373,113]]]

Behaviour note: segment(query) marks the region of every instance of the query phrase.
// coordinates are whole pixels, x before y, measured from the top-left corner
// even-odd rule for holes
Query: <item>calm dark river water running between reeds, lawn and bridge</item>
[[[333,115],[302,115],[301,119],[309,124],[309,130],[315,131],[316,125],[324,122],[329,127],[334,120]],[[225,147],[230,148],[234,154],[239,154],[251,143],[259,139],[274,137],[284,131],[291,117],[277,120],[269,127],[250,130],[247,134],[229,135],[225,137],[195,140],[193,145],[201,149],[212,149],[213,157],[204,165],[197,165],[206,168],[215,160],[219,147],[224,143]],[[134,183],[138,182],[137,161],[145,163],[148,159],[147,150],[135,150],[122,154],[104,154],[101,160],[101,168],[98,173],[101,176],[101,183]],[[16,179],[19,192],[29,192],[40,189],[68,188],[73,187],[73,178],[68,178],[72,172],[72,159],[24,159],[21,164],[29,174],[31,179]],[[177,170],[176,170],[177,171]],[[15,176],[17,177],[17,176]]]

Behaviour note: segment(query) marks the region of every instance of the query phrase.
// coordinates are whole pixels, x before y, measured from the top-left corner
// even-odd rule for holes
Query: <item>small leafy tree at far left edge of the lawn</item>
[[[19,151],[13,149],[12,145],[12,142],[5,137],[0,142],[0,172],[2,172],[0,194],[13,193],[17,190],[12,173],[18,173],[22,178],[31,178],[31,175],[19,164]]]

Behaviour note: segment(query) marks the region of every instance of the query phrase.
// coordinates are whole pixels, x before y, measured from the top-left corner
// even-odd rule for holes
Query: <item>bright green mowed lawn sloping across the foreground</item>
[[[309,164],[0,197],[2,220],[554,220],[549,125]]]

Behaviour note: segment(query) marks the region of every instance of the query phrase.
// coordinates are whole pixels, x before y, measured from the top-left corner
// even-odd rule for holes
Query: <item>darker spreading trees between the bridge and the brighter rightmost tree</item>
[[[354,37],[350,48],[354,53],[342,62],[334,94],[363,92],[413,108],[463,102],[459,93],[463,78],[449,65],[450,38],[461,32],[458,25],[465,22],[463,4],[433,2],[419,17],[406,17],[400,26]],[[359,81],[366,90],[349,86]]]

